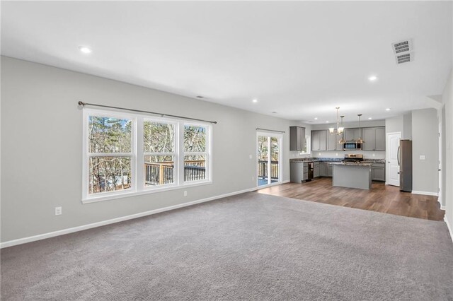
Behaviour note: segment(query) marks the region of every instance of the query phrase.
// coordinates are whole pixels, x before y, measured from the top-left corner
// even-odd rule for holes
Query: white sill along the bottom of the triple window
[[[82,203],[96,203],[98,201],[110,201],[114,199],[123,199],[128,198],[131,196],[141,196],[143,194],[154,194],[157,192],[164,192],[164,191],[171,191],[176,189],[183,189],[186,187],[197,187],[203,185],[210,185],[212,181],[193,181],[193,182],[186,182],[180,186],[166,186],[166,187],[159,187],[159,188],[144,188],[142,191],[120,191],[115,194],[108,194],[108,195],[100,195],[100,196],[91,196],[85,199],[82,199]]]

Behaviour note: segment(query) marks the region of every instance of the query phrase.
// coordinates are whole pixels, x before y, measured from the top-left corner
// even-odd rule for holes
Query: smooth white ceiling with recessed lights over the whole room
[[[442,93],[452,11],[452,1],[2,1],[1,54],[314,124],[334,122],[336,106],[346,122],[383,119]],[[391,43],[405,39],[415,60],[397,65]]]

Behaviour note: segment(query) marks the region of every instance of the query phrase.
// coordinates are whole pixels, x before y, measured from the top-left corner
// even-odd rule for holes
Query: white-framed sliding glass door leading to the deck
[[[281,183],[281,145],[281,135],[257,133],[258,186]]]

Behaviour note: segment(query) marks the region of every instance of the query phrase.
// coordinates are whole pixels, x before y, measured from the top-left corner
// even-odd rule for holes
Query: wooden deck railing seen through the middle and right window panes
[[[184,181],[195,181],[206,178],[205,160],[184,162]],[[156,162],[144,164],[145,184],[161,185],[173,183],[173,162]]]

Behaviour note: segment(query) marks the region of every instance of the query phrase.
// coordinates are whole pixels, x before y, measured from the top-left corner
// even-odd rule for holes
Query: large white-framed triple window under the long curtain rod
[[[210,183],[210,133],[210,124],[84,109],[84,203]]]

